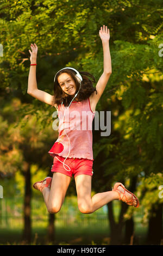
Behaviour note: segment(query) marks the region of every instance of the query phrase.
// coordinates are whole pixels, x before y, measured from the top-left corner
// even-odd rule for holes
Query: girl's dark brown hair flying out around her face
[[[54,82],[54,103],[55,104],[60,105],[61,102],[63,101],[63,104],[65,106],[68,106],[74,97],[74,95],[66,96],[65,92],[61,89],[61,87],[58,83],[58,76],[62,73],[67,73],[72,77],[72,79],[76,83],[76,87],[77,87],[76,93],[78,92],[78,90],[80,88],[79,93],[77,95],[78,101],[88,99],[89,96],[93,92],[95,92],[96,88],[93,87],[93,83],[96,82],[95,77],[93,75],[91,75],[89,72],[84,72],[84,71],[78,71],[78,72],[83,78],[81,87],[80,87],[80,83],[78,82],[78,79],[76,77],[76,71],[74,71],[72,69],[64,69],[64,70],[61,70],[58,72],[57,76],[55,77],[55,82]],[[90,80],[89,77],[92,78],[92,81]],[[97,94],[97,90],[96,90],[96,94]],[[54,105],[54,103],[53,103],[53,105]]]

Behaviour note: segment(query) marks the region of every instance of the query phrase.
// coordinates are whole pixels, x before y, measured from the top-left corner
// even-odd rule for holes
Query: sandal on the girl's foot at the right
[[[124,192],[118,190],[118,186],[123,187]],[[135,196],[135,194],[133,194],[133,193],[131,193],[130,191],[128,191],[128,190],[126,189],[126,187],[124,187],[124,185],[123,185],[122,183],[117,182],[117,183],[114,185],[114,188],[112,188],[112,191],[118,192],[119,200],[122,200],[122,202],[127,203],[128,205],[133,205],[133,206],[135,206],[136,208],[139,207],[139,200],[138,200],[138,198]],[[132,196],[132,197],[131,197],[131,200],[128,200],[128,199],[127,199],[127,196],[126,196],[126,193],[125,193],[126,191],[131,194],[131,196]],[[123,194],[122,198],[121,198],[121,193]],[[123,199],[123,197],[124,197],[124,199]],[[134,197],[135,197],[135,198],[134,198]],[[136,205],[134,205],[134,200],[136,200],[136,202],[137,202]]]

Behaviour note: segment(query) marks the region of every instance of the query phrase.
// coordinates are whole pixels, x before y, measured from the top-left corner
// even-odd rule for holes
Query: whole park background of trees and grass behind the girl
[[[161,0],[1,1],[1,245],[163,244],[162,10]],[[30,44],[38,47],[37,87],[53,94],[54,76],[65,66],[98,81],[103,25],[110,29],[112,74],[96,111],[111,111],[111,134],[92,131],[92,195],[120,181],[140,207],[116,200],[82,214],[72,179],[60,212],[49,214],[32,184],[51,175],[48,150],[58,131],[55,108],[27,94]]]

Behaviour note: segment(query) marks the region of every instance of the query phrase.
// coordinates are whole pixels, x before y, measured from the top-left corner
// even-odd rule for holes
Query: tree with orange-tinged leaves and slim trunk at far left
[[[33,164],[37,164],[37,169],[44,170],[43,176],[46,176],[51,169],[49,163],[52,163],[51,156],[48,155],[48,150],[51,145],[51,137],[54,131],[51,129],[51,124],[47,124],[43,131],[40,131],[40,123],[42,123],[42,112],[39,120],[35,114],[28,114],[21,120],[17,115],[20,111],[22,103],[19,99],[13,99],[9,102],[1,101],[3,111],[1,111],[1,158],[0,172],[1,178],[14,177],[19,170],[24,176],[24,230],[23,240],[31,241],[31,198],[32,198],[32,180],[31,168]],[[47,110],[44,109],[47,114]],[[28,122],[27,122],[28,118]],[[19,123],[18,123],[19,120]],[[43,178],[39,177],[38,178]],[[35,179],[37,175],[35,175]],[[12,189],[12,196],[13,194]]]

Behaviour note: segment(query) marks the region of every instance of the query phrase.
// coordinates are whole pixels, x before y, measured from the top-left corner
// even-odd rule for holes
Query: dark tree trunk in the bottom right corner
[[[162,204],[158,208],[152,208],[149,218],[147,244],[160,245],[162,239]]]

